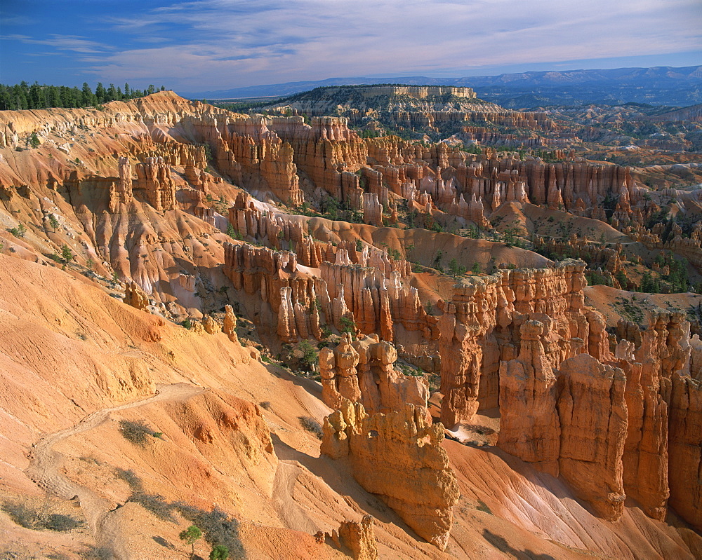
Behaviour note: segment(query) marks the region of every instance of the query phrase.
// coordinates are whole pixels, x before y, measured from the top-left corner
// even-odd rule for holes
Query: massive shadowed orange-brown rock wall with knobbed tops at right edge
[[[593,331],[602,325],[585,313]],[[649,314],[649,326],[620,321],[614,353],[598,334],[556,367],[545,352],[545,327],[520,327],[520,351],[500,365],[498,445],[564,477],[602,517],[616,519],[624,494],[654,519],[670,505],[699,526],[702,440],[695,399],[702,343],[689,338],[680,313]],[[693,477],[694,479],[694,477]]]

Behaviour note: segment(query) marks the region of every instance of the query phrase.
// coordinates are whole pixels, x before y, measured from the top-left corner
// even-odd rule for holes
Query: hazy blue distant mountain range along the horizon
[[[178,93],[190,99],[204,97],[211,100],[286,97],[321,86],[352,86],[364,83],[470,87],[481,99],[496,102],[511,109],[555,104],[639,102],[685,106],[702,103],[702,66],[539,71],[465,78],[359,76]]]

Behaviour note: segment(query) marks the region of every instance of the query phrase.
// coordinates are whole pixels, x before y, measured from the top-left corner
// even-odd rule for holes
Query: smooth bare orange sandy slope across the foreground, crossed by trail
[[[598,521],[558,480],[494,448],[450,441],[462,498],[441,553],[343,463],[319,456],[319,440],[298,421],[329,414],[318,383],[251,360],[224,334],[195,334],[134,310],[59,268],[5,256],[0,268],[0,498],[41,499],[32,478],[43,481],[62,498],[79,496],[64,504],[79,502],[73,511],[90,529],[28,531],[0,514],[0,551],[80,557],[88,545],[107,544],[120,558],[185,554],[178,532],[188,522],[162,521],[128,501],[119,467],[164,500],[217,505],[237,517],[252,559],[341,557],[312,534],[365,512],[376,518],[388,559],[634,557],[630,549],[691,557],[675,529],[636,507],[617,524]],[[245,428],[249,421],[223,429],[227,414],[260,414],[270,440],[267,430]],[[121,419],[144,419],[163,437],[135,446],[120,435]],[[201,543],[197,552],[208,549]]]

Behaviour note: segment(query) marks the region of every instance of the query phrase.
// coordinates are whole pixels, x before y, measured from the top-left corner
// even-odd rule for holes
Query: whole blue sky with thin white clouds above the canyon
[[[702,64],[702,0],[0,0],[0,83],[198,92]]]

